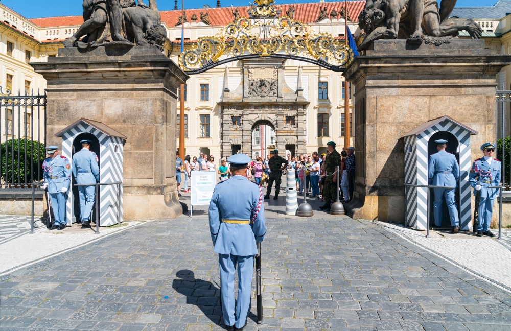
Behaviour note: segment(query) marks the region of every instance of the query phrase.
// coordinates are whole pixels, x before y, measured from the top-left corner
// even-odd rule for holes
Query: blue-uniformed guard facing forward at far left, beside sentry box
[[[52,230],[63,230],[65,221],[65,197],[71,184],[71,163],[65,156],[59,155],[57,146],[47,148],[50,155],[42,163],[44,188],[48,188],[50,201],[52,202],[54,222]]]

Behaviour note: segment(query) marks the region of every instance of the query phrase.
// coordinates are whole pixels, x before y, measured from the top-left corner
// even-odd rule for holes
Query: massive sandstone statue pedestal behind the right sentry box
[[[509,63],[484,40],[456,38],[440,46],[378,40],[357,57],[344,73],[356,91],[356,187],[346,215],[404,223],[402,136],[429,120],[448,115],[478,131],[472,160],[480,157],[482,143],[495,140],[496,74]]]

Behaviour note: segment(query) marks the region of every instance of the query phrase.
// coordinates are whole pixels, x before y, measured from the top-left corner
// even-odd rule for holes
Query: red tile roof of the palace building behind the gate
[[[347,10],[350,18],[353,21],[358,21],[358,15],[364,8],[365,1],[349,1],[347,3]],[[293,19],[306,24],[313,23],[319,17],[319,11],[324,6],[327,6],[327,11],[330,15],[333,9],[340,11],[344,7],[344,1],[325,2],[325,3],[306,3],[306,4],[276,4],[274,7],[281,10],[281,17],[286,16],[286,11],[289,6],[296,8]],[[188,21],[191,22],[191,17],[195,14],[200,21],[200,13],[208,13],[210,23],[212,26],[226,26],[234,19],[233,11],[238,8],[240,16],[248,17],[248,6],[239,7],[220,7],[220,8],[199,8],[199,9],[186,9],[184,12],[187,14]],[[167,10],[161,11],[161,20],[167,23],[169,27],[174,27],[177,23],[181,10]],[[330,16],[329,16],[330,17]],[[339,16],[337,16],[339,17]],[[61,27],[81,25],[83,23],[82,16],[60,16],[60,17],[45,17],[45,18],[32,18],[30,19],[35,25],[41,28]]]

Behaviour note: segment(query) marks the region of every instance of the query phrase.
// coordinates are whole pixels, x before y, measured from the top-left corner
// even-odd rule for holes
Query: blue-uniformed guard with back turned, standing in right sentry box
[[[428,181],[434,186],[458,187],[459,165],[456,157],[446,152],[447,140],[435,140],[438,153],[432,154],[428,162]],[[455,189],[433,188],[435,201],[433,203],[433,216],[435,225],[442,225],[442,201],[446,199],[451,218],[452,233],[459,231],[458,209],[456,208]]]

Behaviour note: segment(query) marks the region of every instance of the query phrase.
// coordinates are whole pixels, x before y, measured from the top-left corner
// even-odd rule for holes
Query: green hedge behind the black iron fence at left
[[[0,148],[0,152],[2,153],[2,169],[0,173],[5,183],[18,183],[18,178],[20,183],[30,183],[32,174],[34,175],[34,181],[42,179],[42,168],[38,169],[38,167],[42,167],[42,162],[46,157],[43,143],[19,138],[7,140]],[[26,159],[25,151],[27,151]],[[14,172],[12,171],[13,165]],[[39,177],[37,176],[38,170],[40,174]]]

